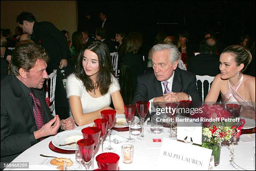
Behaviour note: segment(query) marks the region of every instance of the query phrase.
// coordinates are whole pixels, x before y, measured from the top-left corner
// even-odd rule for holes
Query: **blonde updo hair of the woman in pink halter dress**
[[[248,50],[248,48],[245,48],[241,45],[232,45],[228,46],[224,49],[223,53],[230,53],[235,57],[236,65],[239,66],[240,64],[244,64],[243,69],[241,72],[245,71],[247,66],[251,62],[251,52]]]

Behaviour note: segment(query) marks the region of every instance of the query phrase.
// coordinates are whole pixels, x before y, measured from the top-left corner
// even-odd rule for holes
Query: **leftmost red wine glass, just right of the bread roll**
[[[95,141],[93,139],[81,139],[77,141],[80,157],[85,163],[86,170],[88,170],[88,164],[93,156],[94,143]]]

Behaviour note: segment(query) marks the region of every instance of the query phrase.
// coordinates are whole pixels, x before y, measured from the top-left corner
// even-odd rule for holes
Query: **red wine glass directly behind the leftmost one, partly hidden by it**
[[[97,127],[87,127],[82,129],[82,135],[85,139],[93,139],[94,143],[94,150],[97,148],[99,141],[100,141],[100,128]],[[92,168],[94,167],[93,163],[93,156],[92,156]]]

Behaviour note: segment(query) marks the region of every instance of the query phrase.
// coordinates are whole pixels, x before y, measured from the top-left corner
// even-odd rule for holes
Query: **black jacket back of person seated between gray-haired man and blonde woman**
[[[187,59],[187,71],[196,75],[215,77],[220,73],[220,57],[210,54],[198,54]]]

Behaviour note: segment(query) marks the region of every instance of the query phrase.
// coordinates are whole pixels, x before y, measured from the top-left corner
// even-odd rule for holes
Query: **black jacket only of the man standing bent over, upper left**
[[[50,57],[47,73],[51,74],[59,68],[61,59],[70,59],[67,37],[50,22],[35,22],[31,40],[43,46]]]

